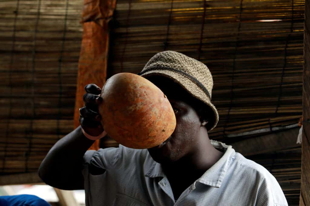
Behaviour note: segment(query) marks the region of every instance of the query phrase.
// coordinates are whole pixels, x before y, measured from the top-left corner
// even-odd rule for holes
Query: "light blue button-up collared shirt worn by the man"
[[[147,149],[120,145],[87,151],[82,171],[86,206],[288,205],[280,185],[268,170],[236,153],[232,146],[213,140],[211,143],[224,155],[176,201],[161,164],[153,160]],[[92,175],[89,164],[106,171]]]

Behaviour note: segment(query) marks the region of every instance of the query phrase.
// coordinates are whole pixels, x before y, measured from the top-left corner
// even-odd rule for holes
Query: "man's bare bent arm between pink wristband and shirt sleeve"
[[[83,187],[83,155],[94,141],[87,139],[79,126],[61,138],[47,153],[39,167],[42,180],[57,188]]]

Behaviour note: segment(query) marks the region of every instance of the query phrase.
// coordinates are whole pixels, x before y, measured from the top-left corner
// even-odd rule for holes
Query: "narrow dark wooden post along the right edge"
[[[310,205],[310,0],[305,1],[303,40],[303,137],[299,205]]]

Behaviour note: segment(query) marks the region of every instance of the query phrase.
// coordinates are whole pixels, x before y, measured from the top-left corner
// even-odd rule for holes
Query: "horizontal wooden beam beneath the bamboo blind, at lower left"
[[[0,176],[0,185],[43,183],[37,172]]]

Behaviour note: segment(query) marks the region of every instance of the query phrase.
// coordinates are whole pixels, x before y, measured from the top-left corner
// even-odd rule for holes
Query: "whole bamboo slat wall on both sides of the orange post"
[[[2,175],[35,172],[55,141],[73,129],[82,3],[0,2]],[[118,0],[108,76],[138,73],[155,53],[175,50],[213,74],[220,120],[212,139],[231,143],[251,137],[230,134],[296,124],[303,12],[303,0]],[[298,205],[300,147],[249,158],[276,176],[289,205]]]

